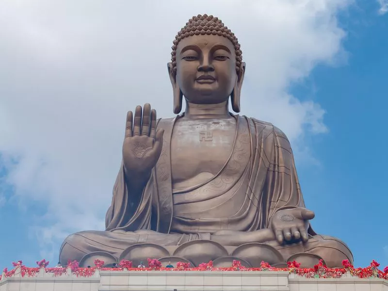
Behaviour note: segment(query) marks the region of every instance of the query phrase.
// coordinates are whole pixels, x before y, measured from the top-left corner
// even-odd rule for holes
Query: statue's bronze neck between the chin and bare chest
[[[218,104],[194,104],[186,100],[185,117],[199,118],[230,118],[228,101]]]

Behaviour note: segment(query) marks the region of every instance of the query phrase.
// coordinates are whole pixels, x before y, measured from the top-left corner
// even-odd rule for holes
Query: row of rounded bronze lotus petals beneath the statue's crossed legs
[[[265,243],[251,242],[240,246],[222,246],[217,242],[197,240],[179,246],[162,246],[154,243],[133,244],[125,249],[119,258],[104,251],[91,252],[81,258],[80,267],[93,266],[96,259],[104,261],[106,266],[118,264],[122,259],[130,260],[134,266],[137,266],[142,261],[146,262],[148,258],[157,258],[164,265],[167,262],[173,265],[186,262],[194,267],[210,260],[215,267],[229,267],[233,260],[238,260],[247,268],[260,267],[262,261],[278,268],[287,267],[286,262],[295,259],[304,267],[313,267],[322,260],[321,257],[310,253],[295,253],[284,257],[273,246]],[[63,260],[62,263],[64,264],[65,261]]]

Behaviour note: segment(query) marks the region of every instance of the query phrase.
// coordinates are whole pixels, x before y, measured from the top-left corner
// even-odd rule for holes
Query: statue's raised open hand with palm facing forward
[[[127,124],[123,144],[123,162],[127,178],[141,179],[148,176],[162,152],[164,129],[156,131],[156,111],[147,103],[137,106],[135,118],[127,113]],[[133,125],[133,127],[132,127]],[[147,179],[148,177],[144,177]]]

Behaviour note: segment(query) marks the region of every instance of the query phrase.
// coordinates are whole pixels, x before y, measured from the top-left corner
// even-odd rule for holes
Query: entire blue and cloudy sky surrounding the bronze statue
[[[204,13],[242,46],[242,114],[289,137],[314,230],[388,265],[388,1],[135,2],[0,1],[0,268],[104,229],[126,113],[174,116],[172,41]]]

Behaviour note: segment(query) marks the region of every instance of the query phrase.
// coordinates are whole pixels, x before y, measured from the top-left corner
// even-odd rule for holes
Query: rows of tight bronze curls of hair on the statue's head
[[[173,65],[174,74],[177,73],[177,46],[179,41],[181,41],[185,37],[193,36],[193,35],[219,35],[224,36],[229,39],[234,45],[234,49],[236,50],[236,71],[237,73],[240,71],[240,66],[242,64],[242,51],[240,49],[239,41],[237,37],[234,35],[227,26],[222,23],[218,17],[214,17],[212,15],[208,16],[206,14],[197,16],[193,16],[189,22],[178,32],[175,40],[173,42],[173,46],[171,49],[171,62]]]

